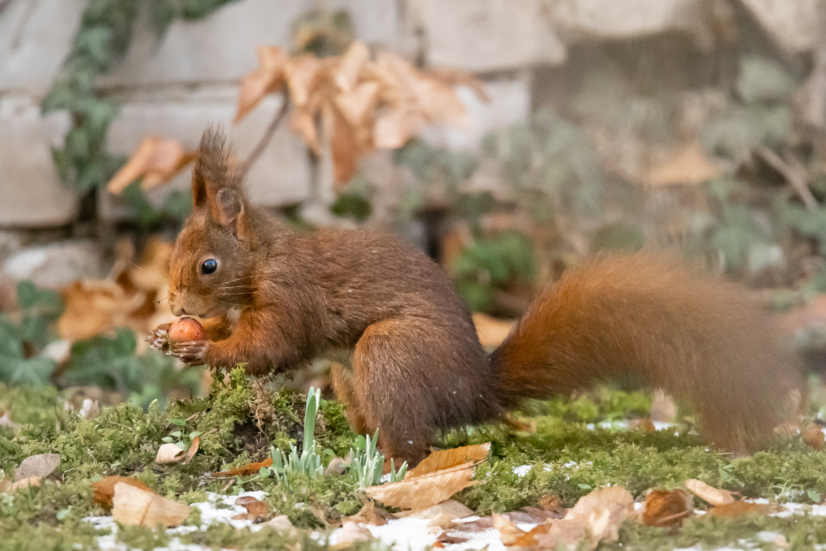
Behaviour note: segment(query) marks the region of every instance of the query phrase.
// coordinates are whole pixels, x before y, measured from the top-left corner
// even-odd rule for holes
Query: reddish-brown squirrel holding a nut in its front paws
[[[334,375],[354,430],[418,463],[443,428],[506,420],[547,398],[633,376],[688,401],[712,444],[765,446],[794,409],[802,373],[746,293],[661,254],[603,254],[545,287],[486,354],[453,284],[425,254],[367,230],[299,233],[249,203],[223,136],[207,131],[194,209],[169,277],[176,316],[206,340],[154,348],[185,363],[286,373],[329,347],[353,349]]]

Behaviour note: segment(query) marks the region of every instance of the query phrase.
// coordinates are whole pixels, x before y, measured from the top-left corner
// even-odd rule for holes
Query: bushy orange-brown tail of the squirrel
[[[738,452],[769,444],[803,389],[799,359],[745,292],[647,252],[568,269],[491,359],[506,408],[640,378],[691,405],[711,444]]]

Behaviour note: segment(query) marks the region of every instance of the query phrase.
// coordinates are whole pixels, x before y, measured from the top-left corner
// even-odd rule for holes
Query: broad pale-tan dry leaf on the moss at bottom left
[[[112,498],[112,518],[124,525],[174,526],[189,516],[190,507],[154,492],[118,482]]]

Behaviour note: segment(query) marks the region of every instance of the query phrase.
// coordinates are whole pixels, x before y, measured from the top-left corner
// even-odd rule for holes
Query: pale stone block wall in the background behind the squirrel
[[[453,65],[489,83],[492,102],[462,93],[472,123],[466,131],[430,131],[429,140],[477,148],[482,136],[524,119],[534,101],[538,69],[565,64],[583,41],[626,40],[674,31],[708,50],[724,34],[733,11],[745,11],[784,55],[821,47],[822,0],[327,0],[349,10],[357,37],[427,64]],[[0,188],[7,207],[0,227],[70,224],[78,198],[59,183],[50,146],[62,143],[69,120],[40,116],[40,99],[59,74],[86,0],[0,2]],[[110,148],[135,150],[159,134],[194,146],[209,124],[223,124],[243,157],[269,117],[271,98],[232,126],[240,78],[256,65],[255,46],[289,47],[292,22],[318,5],[313,0],[239,0],[202,21],[176,21],[160,43],[139,24],[131,50],[102,78],[101,88],[121,103]],[[188,175],[151,193],[186,188]],[[300,202],[311,191],[311,168],[301,142],[278,131],[249,173],[254,200],[277,206]],[[100,216],[126,211],[116,197],[101,197]]]

